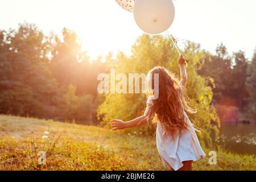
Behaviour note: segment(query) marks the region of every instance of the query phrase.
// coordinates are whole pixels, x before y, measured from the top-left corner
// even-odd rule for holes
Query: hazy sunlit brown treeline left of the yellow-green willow
[[[0,31],[1,114],[97,121],[97,75],[105,64],[90,60],[75,32],[62,33],[63,40],[46,36],[27,23]]]

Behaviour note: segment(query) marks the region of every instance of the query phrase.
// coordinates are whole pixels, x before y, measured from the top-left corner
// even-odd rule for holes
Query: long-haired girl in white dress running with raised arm
[[[147,78],[147,87],[154,94],[155,74],[158,74],[158,98],[148,96],[144,115],[129,122],[119,119],[112,120],[112,130],[146,125],[156,118],[156,146],[164,167],[171,170],[191,171],[192,162],[205,157],[195,127],[189,121],[185,111],[195,113],[188,106],[182,90],[187,83],[187,72],[183,55],[178,59],[181,80],[178,82],[174,75],[162,67],[151,70]],[[150,84],[152,83],[152,84]]]

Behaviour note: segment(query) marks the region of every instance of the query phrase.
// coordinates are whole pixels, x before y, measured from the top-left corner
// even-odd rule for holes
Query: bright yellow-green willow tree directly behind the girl
[[[184,48],[184,56],[189,60],[188,84],[186,94],[191,98],[191,104],[196,106],[196,115],[189,115],[191,121],[202,130],[199,138],[205,144],[211,144],[210,133],[212,130],[217,134],[216,126],[211,125],[211,121],[219,123],[216,110],[210,105],[212,102],[212,88],[208,83],[210,78],[197,74],[197,69],[201,67],[204,59],[208,57],[207,52],[200,50],[200,47],[191,42],[187,42]],[[163,36],[142,35],[134,44],[131,56],[119,53],[116,64],[113,65],[118,73],[147,73],[157,65],[166,67],[170,71],[179,74],[177,63],[177,52],[170,39]],[[103,116],[102,121],[109,125],[111,119],[123,119],[128,121],[138,117],[146,107],[146,97],[143,94],[106,94],[105,101],[98,107],[98,115]],[[147,133],[147,129],[135,129]],[[132,130],[134,131],[134,130]],[[154,133],[154,129],[150,130]]]

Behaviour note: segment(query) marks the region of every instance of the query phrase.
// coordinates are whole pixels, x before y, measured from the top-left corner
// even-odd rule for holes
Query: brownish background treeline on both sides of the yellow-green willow
[[[97,94],[97,76],[108,73],[125,56],[120,53],[113,60],[110,53],[105,61],[102,56],[92,60],[75,32],[63,28],[62,33],[61,38],[44,35],[28,23],[18,30],[0,30],[1,114],[97,123],[97,109],[106,99]],[[236,107],[237,113],[255,118],[256,54],[252,61],[243,52],[229,56],[220,45],[216,55],[205,57],[196,71],[214,78],[212,103]],[[221,115],[225,117],[230,116]]]

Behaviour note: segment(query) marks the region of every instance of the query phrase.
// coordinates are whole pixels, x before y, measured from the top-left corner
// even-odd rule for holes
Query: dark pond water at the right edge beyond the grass
[[[221,126],[219,142],[231,152],[256,155],[256,125]]]

